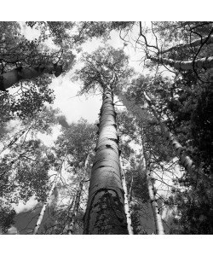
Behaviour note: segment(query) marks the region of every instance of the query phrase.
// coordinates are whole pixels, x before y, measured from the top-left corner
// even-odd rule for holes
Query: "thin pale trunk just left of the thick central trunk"
[[[72,209],[71,222],[70,222],[69,227],[67,229],[67,235],[73,235],[73,228],[74,228],[74,225],[75,225],[75,222],[76,222],[76,215],[78,213],[78,208],[79,208],[79,204],[80,204],[80,198],[81,198],[83,184],[84,184],[85,177],[86,177],[86,171],[87,171],[88,163],[89,163],[89,154],[87,155],[87,158],[86,158],[85,163],[84,163],[83,177],[81,178],[81,181],[80,181],[79,186],[78,186],[74,207]]]

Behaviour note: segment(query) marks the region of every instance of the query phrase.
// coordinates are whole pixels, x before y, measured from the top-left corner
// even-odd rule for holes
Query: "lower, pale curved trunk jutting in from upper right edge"
[[[199,69],[199,68],[211,68],[213,67],[213,56],[206,57],[206,58],[201,58],[195,61],[175,61],[172,59],[167,59],[167,58],[155,58],[152,56],[148,56],[148,59],[154,62],[158,62],[160,64],[164,65],[169,65],[170,67],[175,67],[176,69],[179,70],[193,70]]]

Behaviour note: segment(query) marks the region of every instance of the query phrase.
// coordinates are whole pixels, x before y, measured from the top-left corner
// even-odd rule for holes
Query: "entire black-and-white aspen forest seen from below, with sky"
[[[212,45],[212,21],[0,21],[0,234],[213,234]]]

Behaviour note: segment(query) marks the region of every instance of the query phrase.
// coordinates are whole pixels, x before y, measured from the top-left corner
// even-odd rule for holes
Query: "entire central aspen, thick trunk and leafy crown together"
[[[102,106],[99,137],[89,184],[89,200],[84,217],[84,234],[128,234],[124,212],[124,190],[119,166],[118,133],[113,91],[131,73],[121,49],[97,49],[83,56],[84,67],[76,79],[83,81],[82,92],[100,86]]]

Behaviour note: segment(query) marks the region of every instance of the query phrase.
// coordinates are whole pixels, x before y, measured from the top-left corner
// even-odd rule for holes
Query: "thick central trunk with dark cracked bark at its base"
[[[128,235],[116,113],[109,86],[103,92],[99,137],[95,150],[83,234]]]

